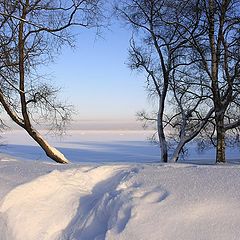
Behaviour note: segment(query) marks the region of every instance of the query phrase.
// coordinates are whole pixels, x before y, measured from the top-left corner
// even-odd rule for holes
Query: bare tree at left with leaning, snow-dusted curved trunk
[[[70,27],[90,28],[99,20],[98,0],[9,0],[0,2],[0,102],[4,110],[59,163],[68,160],[50,146],[34,122],[50,120],[62,129],[71,106],[57,100],[58,89],[38,74],[64,44],[73,45]]]

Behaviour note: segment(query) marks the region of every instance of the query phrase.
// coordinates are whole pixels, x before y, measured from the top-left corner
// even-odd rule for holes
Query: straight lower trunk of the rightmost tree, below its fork
[[[224,129],[224,118],[221,114],[216,119],[217,125],[217,149],[216,149],[216,163],[225,163],[225,129]]]

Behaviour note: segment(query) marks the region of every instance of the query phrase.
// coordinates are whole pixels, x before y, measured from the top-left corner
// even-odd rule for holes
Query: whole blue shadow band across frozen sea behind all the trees
[[[63,143],[64,144],[64,143]],[[144,141],[118,142],[65,142],[59,149],[72,163],[155,163],[160,161],[158,146]],[[69,145],[69,147],[67,147]],[[74,146],[74,147],[73,147]],[[1,153],[16,159],[50,160],[39,146],[9,144],[0,148]],[[240,150],[227,149],[227,161],[240,163]],[[182,163],[214,164],[215,150],[199,152],[192,144]]]

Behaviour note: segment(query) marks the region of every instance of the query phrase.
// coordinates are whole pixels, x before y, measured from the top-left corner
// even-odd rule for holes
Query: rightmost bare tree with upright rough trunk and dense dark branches
[[[226,132],[240,126],[240,2],[238,0],[189,1],[200,19],[197,31],[190,33],[188,42],[195,59],[199,59],[199,71],[205,76],[214,106],[211,122],[211,142],[216,146],[216,162],[224,163]],[[172,22],[172,24],[176,24]],[[189,31],[184,23],[179,28]],[[199,33],[200,34],[196,34]],[[234,131],[232,131],[233,133]],[[215,140],[216,139],[216,140]]]

